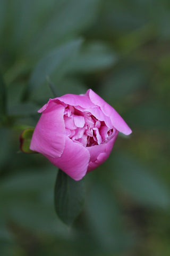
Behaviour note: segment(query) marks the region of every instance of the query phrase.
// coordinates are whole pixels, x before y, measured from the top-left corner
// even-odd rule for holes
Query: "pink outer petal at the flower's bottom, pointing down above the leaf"
[[[81,180],[86,175],[90,160],[87,148],[68,137],[65,138],[65,148],[60,158],[46,157],[74,180]]]

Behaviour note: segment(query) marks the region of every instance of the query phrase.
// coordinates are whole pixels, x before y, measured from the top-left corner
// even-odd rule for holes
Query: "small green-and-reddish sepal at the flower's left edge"
[[[30,149],[30,143],[32,139],[34,128],[25,129],[20,135],[20,149],[23,153],[33,154],[36,153]]]

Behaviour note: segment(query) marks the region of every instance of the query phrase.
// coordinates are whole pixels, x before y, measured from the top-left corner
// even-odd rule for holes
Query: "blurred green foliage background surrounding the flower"
[[[2,256],[170,255],[169,23],[169,0],[0,0]],[[95,90],[133,131],[86,176],[70,230],[54,211],[56,167],[19,154],[49,83]]]

